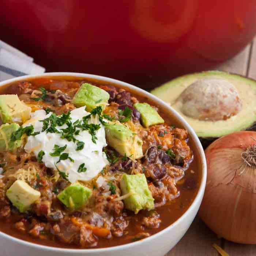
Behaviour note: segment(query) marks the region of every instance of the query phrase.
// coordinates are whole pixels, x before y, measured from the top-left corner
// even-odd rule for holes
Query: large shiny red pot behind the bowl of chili
[[[149,88],[238,53],[255,13],[256,0],[2,0],[0,31],[47,71]]]

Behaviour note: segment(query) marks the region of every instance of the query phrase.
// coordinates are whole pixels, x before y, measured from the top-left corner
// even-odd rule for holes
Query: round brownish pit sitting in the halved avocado
[[[198,120],[226,120],[242,108],[236,87],[219,78],[204,78],[193,82],[178,97],[181,112]]]

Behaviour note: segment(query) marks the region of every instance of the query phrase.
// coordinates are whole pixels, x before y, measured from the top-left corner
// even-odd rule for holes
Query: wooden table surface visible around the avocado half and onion
[[[256,38],[241,53],[232,59],[212,68],[212,70],[234,72],[256,79]],[[256,255],[256,245],[242,245],[217,237],[202,220],[196,216],[185,236],[166,256],[218,256],[212,247],[216,243],[230,256]]]

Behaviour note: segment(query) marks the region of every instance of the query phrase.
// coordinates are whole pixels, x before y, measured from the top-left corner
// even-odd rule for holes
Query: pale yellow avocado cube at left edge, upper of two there
[[[0,117],[3,123],[22,124],[30,118],[31,108],[21,102],[17,95],[0,95]]]

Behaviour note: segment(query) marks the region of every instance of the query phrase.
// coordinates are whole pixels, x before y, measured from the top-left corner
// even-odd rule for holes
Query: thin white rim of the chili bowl
[[[157,102],[159,105],[163,105],[165,108],[167,108],[169,110],[169,112],[171,113],[172,116],[175,116],[175,118],[177,118],[178,121],[180,121],[180,123],[182,124],[182,126],[187,129],[189,135],[191,136],[191,138],[194,140],[196,149],[198,150],[199,153],[199,157],[200,157],[200,164],[202,166],[202,180],[201,180],[201,184],[199,187],[199,190],[197,192],[197,195],[195,197],[195,199],[193,200],[191,206],[189,206],[189,208],[187,209],[187,211],[184,212],[184,214],[181,215],[180,218],[178,218],[175,222],[173,222],[171,225],[167,226],[165,229],[155,233],[154,235],[144,238],[142,240],[139,241],[135,241],[135,242],[131,242],[128,244],[124,244],[124,245],[117,245],[117,246],[110,246],[110,247],[106,247],[106,248],[98,248],[98,249],[68,249],[68,248],[60,248],[60,247],[54,247],[54,246],[48,246],[48,245],[40,245],[40,244],[36,244],[33,242],[28,242],[13,236],[10,236],[8,234],[5,234],[3,232],[0,231],[0,237],[5,237],[7,239],[12,240],[13,242],[17,242],[18,244],[22,244],[22,245],[26,245],[29,247],[34,247],[37,249],[41,249],[41,250],[45,250],[45,251],[55,251],[55,252],[65,252],[65,253],[76,253],[76,254],[84,254],[84,253],[99,253],[99,252],[114,252],[116,250],[122,250],[122,249],[127,249],[129,247],[135,246],[135,245],[141,245],[143,244],[145,241],[150,242],[151,240],[153,241],[155,238],[161,236],[162,234],[166,234],[169,230],[171,230],[173,228],[173,226],[178,225],[178,223],[184,221],[186,219],[186,217],[191,214],[191,212],[193,211],[193,208],[195,208],[198,204],[200,206],[201,202],[200,202],[200,197],[203,197],[204,194],[204,189],[206,186],[206,176],[207,176],[207,165],[206,165],[206,158],[204,155],[204,150],[203,147],[200,143],[200,140],[198,139],[196,133],[193,131],[193,129],[191,128],[191,126],[187,123],[187,121],[180,116],[180,114],[174,110],[170,105],[168,105],[167,103],[165,103],[164,101],[162,101],[161,99],[157,98],[155,95],[139,88],[136,87],[132,84],[126,83],[126,82],[122,82],[120,80],[117,79],[113,79],[113,78],[108,78],[105,76],[99,76],[99,75],[92,75],[92,74],[86,74],[86,73],[76,73],[76,72],[46,72],[46,73],[42,73],[42,74],[35,74],[35,75],[25,75],[25,76],[19,76],[16,78],[11,78],[8,80],[4,80],[2,82],[0,82],[0,87],[4,86],[6,84],[10,84],[13,82],[18,82],[20,80],[25,80],[25,79],[34,79],[34,78],[41,78],[41,77],[48,77],[48,76],[68,76],[68,77],[77,77],[77,78],[88,78],[88,79],[97,79],[99,81],[102,82],[109,82],[109,83],[115,83],[120,85],[121,87],[127,87],[128,89],[132,89],[133,91],[146,95],[148,98],[153,99],[155,102]]]

